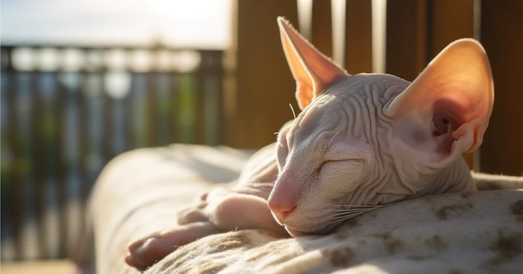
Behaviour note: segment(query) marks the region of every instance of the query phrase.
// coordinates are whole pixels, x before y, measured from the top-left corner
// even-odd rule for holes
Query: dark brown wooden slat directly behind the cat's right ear
[[[474,37],[474,0],[438,0],[430,2],[429,60],[449,43],[460,38]],[[469,168],[479,170],[477,153],[464,155]]]

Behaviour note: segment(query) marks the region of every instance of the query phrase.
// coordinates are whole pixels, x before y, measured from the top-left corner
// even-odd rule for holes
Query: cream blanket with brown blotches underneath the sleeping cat
[[[138,273],[124,263],[129,242],[172,228],[177,209],[233,181],[251,153],[174,145],[111,161],[91,200],[96,273]],[[480,192],[396,202],[330,235],[215,234],[145,273],[523,273],[523,190],[506,187],[517,188],[486,180]]]

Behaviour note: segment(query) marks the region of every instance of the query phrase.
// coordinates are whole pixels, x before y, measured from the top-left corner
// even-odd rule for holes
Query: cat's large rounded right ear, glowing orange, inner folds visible
[[[393,118],[406,144],[450,162],[481,145],[493,104],[485,50],[475,40],[460,39],[442,50],[384,114]]]

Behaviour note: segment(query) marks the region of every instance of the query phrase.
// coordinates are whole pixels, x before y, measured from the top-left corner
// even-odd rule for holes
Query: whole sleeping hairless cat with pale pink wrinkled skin
[[[266,229],[325,234],[357,206],[476,190],[462,158],[481,145],[494,103],[480,43],[449,44],[413,81],[349,75],[278,18],[302,112],[258,151],[232,189],[214,189],[179,226],[130,245],[143,269],[202,236]]]

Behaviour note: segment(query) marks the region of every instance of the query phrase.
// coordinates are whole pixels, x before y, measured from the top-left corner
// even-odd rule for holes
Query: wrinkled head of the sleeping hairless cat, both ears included
[[[349,75],[285,19],[278,24],[302,112],[278,135],[268,206],[292,235],[328,232],[365,208],[357,205],[426,192],[481,145],[494,85],[475,40],[449,44],[409,82]]]

